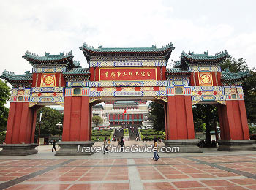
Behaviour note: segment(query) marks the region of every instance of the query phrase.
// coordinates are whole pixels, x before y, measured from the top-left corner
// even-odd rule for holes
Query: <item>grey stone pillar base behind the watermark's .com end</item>
[[[165,151],[166,153],[201,153],[202,151],[197,146],[198,139],[184,139],[184,140],[163,140],[165,148],[172,148],[173,151]],[[178,151],[179,148],[179,151]]]

